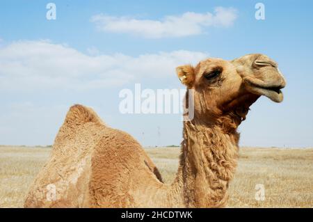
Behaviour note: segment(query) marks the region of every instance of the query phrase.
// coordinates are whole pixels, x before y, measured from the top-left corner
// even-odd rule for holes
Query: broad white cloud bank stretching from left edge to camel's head
[[[171,51],[143,54],[90,56],[49,41],[19,41],[0,48],[0,90],[67,88],[86,90],[120,86],[139,80],[175,74],[177,65],[195,64],[208,54]]]

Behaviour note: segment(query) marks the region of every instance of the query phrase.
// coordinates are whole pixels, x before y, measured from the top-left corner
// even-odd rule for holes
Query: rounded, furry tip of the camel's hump
[[[64,124],[74,127],[77,125],[83,125],[87,122],[95,122],[104,125],[104,122],[102,122],[93,109],[80,104],[75,104],[70,107],[70,110],[67,112]]]

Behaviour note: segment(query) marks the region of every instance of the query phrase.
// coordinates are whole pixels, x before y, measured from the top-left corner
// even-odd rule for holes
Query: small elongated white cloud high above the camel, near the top
[[[234,8],[217,7],[214,13],[187,12],[166,16],[162,20],[135,19],[95,15],[91,21],[97,29],[111,33],[131,33],[145,38],[183,37],[198,35],[208,26],[230,26],[236,19]]]

